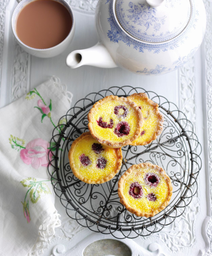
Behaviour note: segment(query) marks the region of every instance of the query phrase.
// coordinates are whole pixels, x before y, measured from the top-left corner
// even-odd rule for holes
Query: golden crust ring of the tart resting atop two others
[[[115,101],[119,101],[120,103],[126,103],[128,104],[136,113],[137,117],[138,117],[138,122],[137,122],[137,126],[135,128],[135,132],[133,133],[133,136],[121,141],[121,142],[112,142],[110,140],[107,139],[101,139],[99,138],[98,134],[96,134],[95,130],[93,129],[93,122],[95,122],[96,120],[93,120],[94,118],[94,114],[95,111],[97,111],[97,109],[102,105],[105,104],[106,102],[110,101],[110,100],[115,100]],[[91,135],[93,136],[93,138],[95,138],[97,141],[99,141],[99,143],[106,145],[108,147],[111,148],[120,148],[120,147],[124,147],[126,145],[129,145],[130,143],[132,143],[132,141],[134,141],[135,139],[137,139],[137,137],[139,137],[139,135],[141,134],[141,127],[143,124],[143,115],[141,110],[136,106],[136,104],[134,102],[132,102],[131,100],[124,98],[124,97],[118,97],[118,96],[114,96],[114,95],[110,95],[110,96],[106,96],[104,98],[102,98],[101,100],[99,100],[98,102],[96,102],[93,105],[93,108],[90,109],[89,113],[88,113],[88,129],[90,130]]]

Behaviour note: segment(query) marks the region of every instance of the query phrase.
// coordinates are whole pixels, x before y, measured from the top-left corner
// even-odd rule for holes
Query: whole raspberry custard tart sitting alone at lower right
[[[172,197],[172,184],[161,167],[140,163],[121,176],[118,194],[128,211],[148,218],[166,208]]]

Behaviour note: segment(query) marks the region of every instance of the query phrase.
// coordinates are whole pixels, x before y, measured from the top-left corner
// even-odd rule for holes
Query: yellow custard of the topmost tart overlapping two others
[[[115,114],[115,107],[118,106],[124,106],[127,109],[127,114],[125,117],[121,116],[124,114],[124,109],[122,108],[118,110],[118,114]],[[102,122],[106,122],[107,124],[110,124],[112,120],[113,127],[102,128],[97,122],[100,120],[99,118],[102,118]],[[119,137],[114,131],[117,127],[117,124],[119,124],[120,122],[127,122],[130,127],[130,131],[129,134]],[[95,111],[92,120],[93,130],[95,131],[95,134],[100,139],[107,139],[112,142],[122,142],[126,139],[132,138],[135,134],[137,123],[138,116],[135,109],[130,107],[126,102],[117,100],[110,100],[99,106],[98,109]]]

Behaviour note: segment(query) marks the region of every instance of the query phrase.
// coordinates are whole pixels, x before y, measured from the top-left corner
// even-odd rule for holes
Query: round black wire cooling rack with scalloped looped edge
[[[93,104],[108,95],[128,96],[146,93],[159,104],[163,113],[163,132],[146,146],[122,148],[121,170],[109,182],[86,184],[76,178],[70,168],[68,151],[71,143],[88,131],[87,115]],[[111,87],[90,93],[60,118],[50,142],[48,171],[54,191],[68,216],[95,232],[125,237],[148,236],[159,232],[181,216],[197,192],[197,176],[201,169],[201,145],[192,123],[177,106],[152,91],[131,86]],[[151,218],[137,217],[119,202],[117,183],[133,164],[150,162],[163,167],[172,180],[173,194],[168,206]]]

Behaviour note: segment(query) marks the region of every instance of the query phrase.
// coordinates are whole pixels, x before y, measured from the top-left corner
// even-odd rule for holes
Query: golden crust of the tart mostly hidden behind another
[[[132,143],[130,143],[130,145],[133,145],[133,146],[147,145],[147,144],[151,143],[152,141],[154,141],[155,139],[157,139],[157,136],[160,135],[161,132],[163,131],[164,117],[159,112],[158,104],[155,103],[154,101],[150,100],[148,98],[148,96],[146,95],[146,93],[134,93],[134,94],[128,96],[127,98],[132,101],[134,99],[145,101],[148,105],[150,105],[154,108],[154,112],[157,115],[158,123],[157,123],[157,127],[155,128],[155,132],[152,135],[152,137],[148,141],[143,141],[142,143],[140,143],[138,140],[132,141]],[[144,122],[145,122],[145,120],[143,121],[143,123]]]

